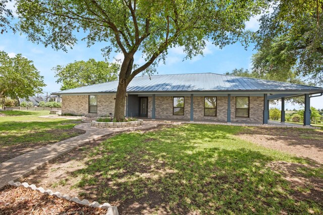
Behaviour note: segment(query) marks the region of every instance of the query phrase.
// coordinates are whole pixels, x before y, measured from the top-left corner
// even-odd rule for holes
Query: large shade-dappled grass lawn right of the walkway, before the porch
[[[268,166],[310,162],[241,140],[234,136],[241,129],[186,124],[116,135],[89,149],[87,166],[71,173],[79,179],[73,187],[121,205],[121,213],[134,213],[127,211],[134,204],[173,214],[322,213],[322,202],[294,197],[311,187],[295,188]],[[321,167],[298,172],[319,179],[322,173]]]

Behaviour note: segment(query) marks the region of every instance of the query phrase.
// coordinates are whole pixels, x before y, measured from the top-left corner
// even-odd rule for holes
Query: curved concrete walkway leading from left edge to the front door
[[[43,167],[48,162],[68,153],[86,142],[102,136],[132,130],[145,130],[157,126],[157,122],[144,122],[135,127],[97,128],[91,123],[76,125],[75,128],[85,130],[84,134],[65,139],[55,144],[44,146],[40,149],[15,157],[0,164],[0,189],[11,180],[17,181],[30,175],[33,171]]]

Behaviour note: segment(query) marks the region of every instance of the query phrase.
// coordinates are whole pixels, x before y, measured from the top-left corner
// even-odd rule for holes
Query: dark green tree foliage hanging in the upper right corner
[[[281,75],[293,70],[323,85],[323,0],[274,0],[272,8],[260,18],[254,69]]]

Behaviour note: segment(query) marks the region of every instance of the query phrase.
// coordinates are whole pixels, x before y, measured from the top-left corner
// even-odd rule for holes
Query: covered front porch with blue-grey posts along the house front
[[[143,119],[152,119],[152,120],[171,120],[171,121],[191,121],[195,123],[231,123],[231,124],[238,124],[238,125],[270,125],[270,126],[281,126],[281,127],[303,127],[303,126],[310,126],[310,98],[322,96],[323,93],[317,93],[317,92],[287,92],[287,93],[279,93],[279,92],[265,92],[265,93],[259,93],[259,92],[241,92],[241,93],[222,93],[222,92],[214,92],[214,93],[176,93],[176,94],[128,94],[127,97],[127,105],[126,105],[126,113],[128,117],[143,117]],[[156,98],[160,97],[178,97],[183,96],[185,97],[185,118],[176,118],[173,115],[169,114],[168,116],[161,116],[160,114],[156,115],[156,109],[158,110],[164,108],[167,106],[166,102],[164,103],[158,103],[156,107]],[[200,117],[200,111],[201,109],[201,103],[196,103],[196,98],[198,97],[207,97],[207,96],[214,96],[218,99],[225,98],[222,100],[217,100],[217,112],[221,117]],[[253,105],[254,109],[257,109],[258,112],[260,112],[256,117],[258,121],[248,121],[248,120],[236,120],[236,97],[257,97],[261,100],[257,101]],[[291,97],[298,97],[298,96],[304,96],[305,98],[305,108],[304,108],[304,123],[303,125],[294,124],[294,123],[288,123],[285,122],[285,98],[291,98]],[[282,107],[281,107],[281,121],[271,121],[269,120],[269,103],[271,100],[282,100]],[[234,101],[233,101],[234,100]],[[218,104],[218,102],[221,102],[221,104]],[[234,104],[232,104],[234,103]],[[249,104],[250,105],[250,104]],[[218,108],[219,106],[219,108]],[[220,107],[221,106],[221,107]],[[173,106],[174,108],[174,106]],[[204,108],[204,107],[203,107]],[[218,110],[219,109],[219,110]],[[233,109],[233,110],[232,110]],[[232,112],[234,114],[232,114]],[[159,111],[160,113],[160,111]],[[184,113],[183,113],[184,116]],[[251,118],[254,117],[252,114],[250,115],[250,110],[248,113],[248,117]]]

